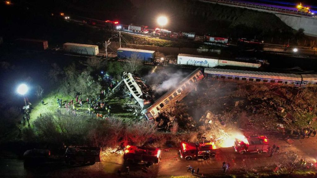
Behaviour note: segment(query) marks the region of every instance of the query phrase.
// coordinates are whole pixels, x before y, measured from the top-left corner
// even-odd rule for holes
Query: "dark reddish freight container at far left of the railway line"
[[[26,39],[26,38],[16,39],[16,45],[18,48],[34,49],[34,50],[45,50],[49,47],[48,41]]]

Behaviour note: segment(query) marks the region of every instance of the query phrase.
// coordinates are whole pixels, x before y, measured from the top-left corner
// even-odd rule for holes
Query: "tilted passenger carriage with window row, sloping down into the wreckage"
[[[157,99],[150,107],[144,110],[146,119],[152,121],[159,117],[160,113],[169,111],[176,102],[182,100],[189,92],[191,92],[204,79],[203,69],[198,68],[183,79],[175,88],[166,92]]]

